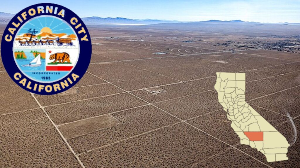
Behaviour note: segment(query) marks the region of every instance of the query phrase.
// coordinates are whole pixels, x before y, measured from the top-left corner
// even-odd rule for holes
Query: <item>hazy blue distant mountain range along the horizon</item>
[[[15,14],[11,13],[4,13],[0,12],[0,24],[7,24],[10,19]],[[158,19],[128,19],[128,18],[122,18],[122,17],[116,17],[116,18],[101,18],[98,16],[92,16],[92,17],[84,17],[81,18],[82,21],[85,23],[85,25],[154,25],[154,24],[164,24],[164,23],[202,23],[202,24],[257,24],[257,25],[264,25],[259,22],[244,22],[241,20],[231,20],[231,21],[221,21],[221,20],[208,20],[208,21],[200,21],[200,22],[180,22],[177,20],[158,20]],[[278,23],[282,25],[298,25],[300,23]]]

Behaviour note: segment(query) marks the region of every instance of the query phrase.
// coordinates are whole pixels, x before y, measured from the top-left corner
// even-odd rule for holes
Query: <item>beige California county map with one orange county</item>
[[[286,154],[290,145],[286,138],[246,102],[245,79],[245,73],[217,72],[214,88],[227,118],[232,121],[232,129],[241,144],[262,152],[268,162],[288,160]]]

